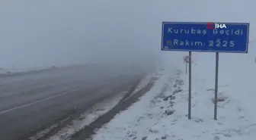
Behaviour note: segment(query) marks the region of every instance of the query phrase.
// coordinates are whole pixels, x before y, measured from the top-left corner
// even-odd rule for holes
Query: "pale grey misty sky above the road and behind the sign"
[[[255,4],[252,0],[1,0],[0,67],[156,63],[165,56],[175,63],[184,53],[160,51],[162,21],[249,22],[254,45]]]

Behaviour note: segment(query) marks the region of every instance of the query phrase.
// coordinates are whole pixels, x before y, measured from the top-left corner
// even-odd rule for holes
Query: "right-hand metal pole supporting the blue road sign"
[[[215,71],[215,99],[214,99],[214,120],[217,120],[218,102],[218,76],[219,76],[219,52],[216,52],[216,71]]]

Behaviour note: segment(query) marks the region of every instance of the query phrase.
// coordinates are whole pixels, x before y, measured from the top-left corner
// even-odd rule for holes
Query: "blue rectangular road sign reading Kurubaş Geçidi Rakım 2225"
[[[162,51],[248,53],[248,39],[249,23],[162,23]]]

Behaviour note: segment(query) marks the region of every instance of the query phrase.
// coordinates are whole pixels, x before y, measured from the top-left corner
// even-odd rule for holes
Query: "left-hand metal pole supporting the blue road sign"
[[[191,55],[189,51],[189,64],[188,64],[188,119],[191,119]]]

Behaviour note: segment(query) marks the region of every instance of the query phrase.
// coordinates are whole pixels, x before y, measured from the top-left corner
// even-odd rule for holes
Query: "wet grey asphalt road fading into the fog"
[[[142,76],[130,67],[80,66],[0,77],[0,139],[27,139],[101,98],[129,90]]]

